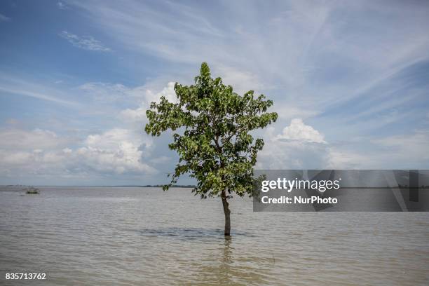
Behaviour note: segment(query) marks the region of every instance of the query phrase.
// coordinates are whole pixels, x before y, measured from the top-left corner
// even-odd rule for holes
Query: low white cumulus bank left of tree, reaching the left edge
[[[0,175],[148,175],[151,139],[113,128],[72,142],[49,130],[2,130]],[[74,144],[75,147],[69,147]],[[149,158],[147,159],[149,161]]]

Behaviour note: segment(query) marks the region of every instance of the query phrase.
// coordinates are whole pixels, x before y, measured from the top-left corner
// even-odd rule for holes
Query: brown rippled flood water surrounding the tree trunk
[[[429,212],[252,212],[189,189],[0,191],[0,285],[429,285]],[[5,273],[46,280],[5,280]]]

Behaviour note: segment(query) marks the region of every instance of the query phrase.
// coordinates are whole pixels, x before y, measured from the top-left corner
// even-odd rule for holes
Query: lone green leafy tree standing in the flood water
[[[265,100],[264,95],[255,97],[250,90],[240,96],[221,78],[212,79],[205,62],[195,84],[176,83],[175,93],[177,103],[161,97],[159,103],[151,102],[146,111],[149,123],[144,130],[152,136],[172,130],[174,142],[168,146],[179,154],[171,182],[163,189],[175,184],[181,175],[195,178],[198,183],[193,193],[201,198],[222,198],[224,234],[229,236],[228,200],[233,193],[252,196],[253,166],[264,146],[264,140],[254,140],[250,132],[275,122],[278,115],[266,112],[273,102]]]

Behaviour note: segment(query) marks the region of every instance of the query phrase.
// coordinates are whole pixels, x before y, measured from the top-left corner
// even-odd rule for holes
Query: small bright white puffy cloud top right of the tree
[[[310,125],[306,125],[300,118],[292,119],[290,125],[285,127],[276,139],[326,144],[323,135]]]

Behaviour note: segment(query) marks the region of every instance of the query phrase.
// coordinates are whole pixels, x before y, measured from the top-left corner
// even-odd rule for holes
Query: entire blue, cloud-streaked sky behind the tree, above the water
[[[429,169],[428,30],[428,1],[0,1],[0,184],[168,182],[145,111],[201,62],[273,100],[258,169]]]

